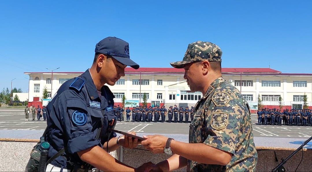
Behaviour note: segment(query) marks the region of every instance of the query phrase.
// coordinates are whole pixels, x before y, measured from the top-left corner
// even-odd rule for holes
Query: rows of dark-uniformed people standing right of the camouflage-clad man
[[[259,125],[312,126],[310,109],[261,109],[257,112]]]

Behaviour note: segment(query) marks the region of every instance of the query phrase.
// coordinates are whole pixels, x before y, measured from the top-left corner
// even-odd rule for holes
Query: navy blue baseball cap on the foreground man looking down
[[[129,43],[116,37],[102,39],[95,45],[95,53],[112,56],[120,63],[131,66],[134,69],[139,69],[140,67],[130,59]]]

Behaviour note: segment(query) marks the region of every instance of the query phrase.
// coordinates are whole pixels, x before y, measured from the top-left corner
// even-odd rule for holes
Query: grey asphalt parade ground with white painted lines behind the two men
[[[15,130],[27,134],[41,133],[46,128],[46,121],[25,121],[23,109],[0,109],[0,138],[3,134],[7,136],[10,130]],[[309,138],[312,136],[312,127],[298,126],[271,126],[258,125],[256,114],[252,114],[253,132],[255,137],[275,137],[275,138]],[[168,120],[168,119],[167,119]],[[154,122],[117,122],[115,129],[121,131],[135,131],[138,133],[158,133],[158,134],[188,134],[189,123],[154,123]],[[37,132],[36,132],[37,131]]]

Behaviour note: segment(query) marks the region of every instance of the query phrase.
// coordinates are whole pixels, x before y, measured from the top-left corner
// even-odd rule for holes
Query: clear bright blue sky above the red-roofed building
[[[107,36],[141,67],[170,67],[189,43],[216,43],[222,67],[312,73],[312,1],[2,1],[0,88],[23,72],[85,71]]]

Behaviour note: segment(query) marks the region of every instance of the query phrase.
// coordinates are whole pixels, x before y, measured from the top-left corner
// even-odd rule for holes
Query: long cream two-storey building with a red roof
[[[51,97],[61,84],[82,72],[54,72],[53,77],[51,72],[24,74],[30,78],[28,99],[32,102],[41,100],[44,88]],[[123,95],[127,100],[139,100],[140,95],[146,94],[148,102],[195,104],[202,93],[191,93],[183,75],[183,69],[175,68],[126,68],[125,76],[109,87],[116,97],[115,102],[121,102]],[[260,95],[263,105],[277,106],[281,97],[283,105],[300,108],[307,95],[308,106],[312,106],[312,74],[287,74],[269,68],[222,68],[222,75],[227,82],[241,89],[248,102],[257,102]]]

